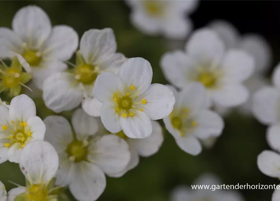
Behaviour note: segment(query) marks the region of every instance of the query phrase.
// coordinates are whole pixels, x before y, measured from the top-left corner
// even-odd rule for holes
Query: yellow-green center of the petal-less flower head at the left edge
[[[7,88],[16,87],[21,81],[21,71],[17,68],[7,68],[1,71],[3,84]]]

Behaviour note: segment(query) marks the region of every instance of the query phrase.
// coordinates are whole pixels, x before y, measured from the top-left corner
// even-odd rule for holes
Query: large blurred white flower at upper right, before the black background
[[[254,60],[238,49],[225,51],[224,43],[209,29],[190,37],[186,52],[166,53],[161,59],[166,79],[179,88],[201,82],[215,105],[238,106],[248,99],[242,84],[253,73]]]

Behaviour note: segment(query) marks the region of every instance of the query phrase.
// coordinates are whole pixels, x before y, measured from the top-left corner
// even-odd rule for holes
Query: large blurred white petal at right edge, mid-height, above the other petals
[[[263,87],[253,96],[253,114],[264,124],[277,123],[280,93],[272,87]]]

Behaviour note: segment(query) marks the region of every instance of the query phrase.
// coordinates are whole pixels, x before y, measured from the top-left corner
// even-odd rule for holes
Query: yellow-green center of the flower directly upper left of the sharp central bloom
[[[90,64],[81,64],[75,68],[75,78],[83,84],[92,84],[97,78],[98,72],[95,66]]]

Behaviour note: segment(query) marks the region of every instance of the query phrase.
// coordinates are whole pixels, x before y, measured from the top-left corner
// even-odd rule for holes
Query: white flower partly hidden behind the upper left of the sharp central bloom
[[[82,102],[89,115],[99,116],[100,103],[93,99],[92,89],[100,73],[115,71],[125,61],[124,55],[116,50],[112,29],[86,31],[81,38],[75,68],[71,72],[55,73],[44,82],[45,105],[58,113],[72,110]]]

